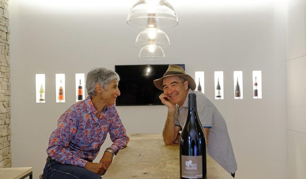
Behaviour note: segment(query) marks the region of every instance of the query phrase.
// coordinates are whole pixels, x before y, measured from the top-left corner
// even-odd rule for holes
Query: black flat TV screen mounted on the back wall
[[[185,70],[185,64],[176,64]],[[167,71],[169,64],[162,65],[115,65],[120,76],[117,106],[163,105],[159,95],[163,93],[155,87],[153,80],[159,79]]]

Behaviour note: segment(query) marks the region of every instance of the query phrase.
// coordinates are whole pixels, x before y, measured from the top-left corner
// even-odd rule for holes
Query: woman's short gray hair
[[[99,83],[104,90],[106,89],[106,85],[112,81],[119,82],[120,77],[119,75],[108,68],[93,68],[87,73],[86,77],[86,90],[89,97],[93,97],[96,94],[95,92],[95,85]]]

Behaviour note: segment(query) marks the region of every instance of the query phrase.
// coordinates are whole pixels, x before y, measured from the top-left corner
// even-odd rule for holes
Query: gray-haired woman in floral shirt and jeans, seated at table
[[[129,142],[126,130],[114,106],[120,95],[118,74],[107,68],[88,72],[88,97],[73,104],[58,119],[47,148],[44,179],[101,179],[119,149]],[[113,144],[100,163],[93,163],[107,133]]]

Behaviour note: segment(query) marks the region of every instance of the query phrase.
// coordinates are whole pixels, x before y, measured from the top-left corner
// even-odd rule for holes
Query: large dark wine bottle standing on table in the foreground
[[[188,115],[180,137],[180,174],[206,179],[205,133],[196,109],[196,94],[188,94]]]

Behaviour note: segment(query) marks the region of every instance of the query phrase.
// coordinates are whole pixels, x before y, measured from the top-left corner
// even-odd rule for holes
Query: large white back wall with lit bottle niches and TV
[[[205,71],[205,93],[227,122],[238,164],[236,178],[287,178],[285,21],[280,2],[169,0],[179,24],[165,29],[171,47],[165,49],[166,60],[156,61],[136,58],[139,49],[133,43],[141,29],[126,24],[136,1],[76,1],[70,7],[65,2],[10,0],[13,167],[32,166],[34,177],[42,173],[50,133],[75,102],[75,73],[86,75],[99,66],[179,63],[192,76]],[[243,100],[233,99],[233,71],[238,70],[244,75]],[[262,70],[263,99],[252,97],[252,70]],[[224,71],[224,100],[214,99],[214,71]],[[40,73],[46,74],[45,104],[35,103],[35,74]],[[62,104],[54,99],[56,73],[66,75]],[[166,107],[117,109],[128,133],[162,132]],[[108,145],[110,141],[101,151]]]

